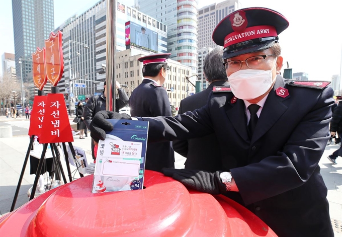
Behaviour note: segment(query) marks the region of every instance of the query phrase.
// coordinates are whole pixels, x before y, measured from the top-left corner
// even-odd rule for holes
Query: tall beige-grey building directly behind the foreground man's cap
[[[212,34],[218,23],[229,13],[241,8],[239,0],[226,0],[198,10],[198,48],[215,48]]]

